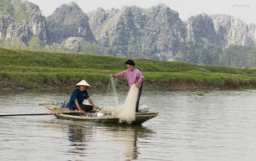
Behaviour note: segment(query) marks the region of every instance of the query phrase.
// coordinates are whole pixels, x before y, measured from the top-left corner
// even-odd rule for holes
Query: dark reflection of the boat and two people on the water
[[[101,125],[101,124],[74,124],[69,125],[68,138],[70,141],[69,154],[86,157],[91,149],[87,149],[87,146],[94,144],[99,152],[105,152],[102,146],[103,141],[110,138],[111,144],[120,148],[122,152],[120,156],[121,160],[136,160],[138,159],[138,144],[137,141],[140,138],[150,138],[154,133],[143,126],[121,126],[121,125]],[[101,144],[99,144],[101,142]],[[101,147],[102,146],[102,147]],[[118,152],[119,153],[119,152]]]

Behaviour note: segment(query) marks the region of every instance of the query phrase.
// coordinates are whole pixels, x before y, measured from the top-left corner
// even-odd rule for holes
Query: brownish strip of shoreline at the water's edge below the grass
[[[75,85],[76,82],[74,82]],[[1,91],[22,91],[22,90],[39,90],[39,91],[48,91],[48,92],[56,92],[56,91],[72,91],[75,89],[75,86],[62,84],[59,86],[52,85],[29,85],[17,86],[18,82],[9,83],[8,86],[3,87],[0,83],[0,92]],[[92,87],[89,88],[91,91],[102,91],[106,92],[108,90],[108,83],[102,82],[92,82]],[[40,87],[41,86],[41,87]],[[116,83],[116,88],[118,90],[129,90],[128,85],[122,85],[121,83]],[[143,90],[161,90],[161,91],[183,91],[183,90],[246,90],[246,89],[256,89],[255,82],[253,83],[239,83],[238,85],[204,85],[202,82],[151,82],[145,81],[143,84]]]

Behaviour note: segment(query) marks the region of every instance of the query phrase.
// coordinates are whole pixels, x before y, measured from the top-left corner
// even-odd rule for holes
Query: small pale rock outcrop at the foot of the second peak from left
[[[83,38],[80,37],[69,37],[62,44],[66,49],[72,52],[80,52],[80,44],[83,42]]]

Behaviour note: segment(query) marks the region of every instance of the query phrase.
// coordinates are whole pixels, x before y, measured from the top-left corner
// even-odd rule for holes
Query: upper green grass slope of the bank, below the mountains
[[[86,68],[100,70],[123,70],[127,58],[101,55],[83,55],[56,52],[32,52],[0,49],[1,66],[34,66],[53,68]],[[168,63],[164,61],[136,59],[141,71],[189,71],[198,68],[191,63]]]

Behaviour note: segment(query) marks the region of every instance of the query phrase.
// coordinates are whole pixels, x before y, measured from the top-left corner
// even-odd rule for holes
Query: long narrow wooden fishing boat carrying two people
[[[111,124],[118,124],[119,122],[119,118],[117,116],[112,116],[110,114],[106,114],[102,117],[84,117],[83,115],[78,114],[78,112],[73,114],[72,112],[70,112],[70,114],[61,114],[61,113],[68,113],[69,111],[72,111],[72,110],[69,110],[67,108],[52,109],[51,107],[53,106],[53,104],[50,104],[50,103],[45,103],[43,104],[43,106],[48,112],[53,113],[53,115],[59,119],[75,119],[75,120],[86,121],[86,122],[101,122],[101,123],[111,123]],[[136,112],[135,121],[132,122],[132,124],[142,124],[143,122],[146,122],[148,119],[157,117],[157,115],[158,115],[158,112]]]

